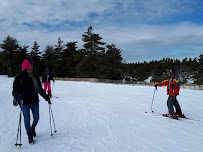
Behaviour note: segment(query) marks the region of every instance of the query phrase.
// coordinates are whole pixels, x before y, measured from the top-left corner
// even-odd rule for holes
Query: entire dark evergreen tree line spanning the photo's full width
[[[122,50],[102,42],[102,37],[93,31],[89,26],[82,35],[83,48],[77,47],[77,41],[64,43],[59,37],[56,45],[47,45],[43,51],[36,41],[28,51],[29,46],[21,46],[16,38],[7,36],[0,44],[0,74],[15,76],[21,70],[22,61],[29,59],[38,75],[49,68],[57,77],[144,81],[151,76],[152,82],[159,82],[166,78],[166,69],[174,67],[183,83],[194,80],[194,83],[203,84],[202,54],[182,61],[164,58],[125,63]]]

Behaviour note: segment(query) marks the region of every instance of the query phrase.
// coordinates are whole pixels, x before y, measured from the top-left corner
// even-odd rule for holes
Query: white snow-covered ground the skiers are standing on
[[[52,109],[57,133],[50,136],[49,109],[40,97],[35,144],[16,148],[19,107],[12,104],[13,78],[0,76],[1,152],[202,152],[203,91],[182,89],[186,116],[172,120],[150,113],[154,87],[56,81]],[[153,110],[167,113],[166,87],[155,92]],[[148,113],[145,113],[148,112]]]

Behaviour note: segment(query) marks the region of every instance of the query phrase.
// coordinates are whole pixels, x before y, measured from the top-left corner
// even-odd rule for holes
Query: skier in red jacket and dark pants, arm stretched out
[[[168,80],[164,80],[161,83],[155,84],[155,88],[157,86],[165,86],[167,85],[167,94],[169,95],[167,100],[167,106],[169,114],[164,114],[165,117],[172,117],[173,119],[178,119],[178,117],[184,118],[185,116],[182,114],[180,105],[178,103],[178,100],[176,98],[177,95],[179,95],[180,91],[180,80],[175,74],[175,70],[173,68],[167,70],[167,74],[169,76]],[[176,109],[176,112],[174,112],[174,108]]]

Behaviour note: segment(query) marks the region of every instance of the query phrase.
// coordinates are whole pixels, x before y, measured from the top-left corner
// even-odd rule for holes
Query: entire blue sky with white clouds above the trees
[[[202,0],[1,0],[0,43],[6,36],[43,51],[58,37],[78,41],[92,25],[126,62],[203,54]]]

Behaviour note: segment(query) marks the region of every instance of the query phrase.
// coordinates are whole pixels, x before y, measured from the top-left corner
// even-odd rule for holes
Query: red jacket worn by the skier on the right
[[[172,84],[174,84],[174,87],[171,87]],[[169,78],[168,80],[164,80],[163,82],[158,83],[157,86],[167,85],[167,94],[169,94],[170,96],[177,96],[179,95],[180,84],[180,80],[174,76]]]

